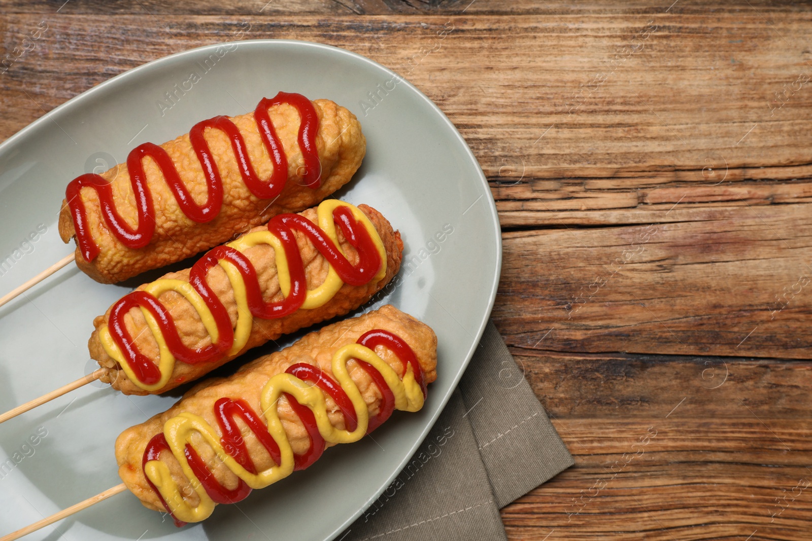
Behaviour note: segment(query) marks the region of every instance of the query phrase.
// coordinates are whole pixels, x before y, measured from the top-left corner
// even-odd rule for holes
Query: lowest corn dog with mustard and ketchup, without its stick
[[[387,305],[205,381],[127,428],[115,442],[119,475],[145,507],[179,526],[199,522],[326,447],[360,440],[393,409],[420,410],[436,366],[431,328]]]

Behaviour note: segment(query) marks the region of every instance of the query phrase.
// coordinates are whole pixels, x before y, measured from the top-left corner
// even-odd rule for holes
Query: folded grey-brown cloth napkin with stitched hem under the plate
[[[337,539],[508,539],[499,509],[572,464],[524,367],[489,321],[412,461]]]

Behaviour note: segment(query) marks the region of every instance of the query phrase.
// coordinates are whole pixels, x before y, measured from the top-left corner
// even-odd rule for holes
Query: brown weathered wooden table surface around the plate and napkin
[[[0,139],[199,45],[373,58],[482,165],[494,320],[576,457],[508,537],[812,539],[812,6],[266,2],[3,0]]]

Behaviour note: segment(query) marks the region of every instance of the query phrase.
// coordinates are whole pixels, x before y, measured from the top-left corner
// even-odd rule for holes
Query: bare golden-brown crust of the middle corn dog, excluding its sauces
[[[395,277],[400,269],[400,260],[403,253],[403,243],[400,240],[400,234],[392,230],[392,226],[385,217],[383,217],[374,208],[367,205],[359,205],[361,212],[369,217],[369,221],[378,230],[384,247],[387,250],[387,273],[378,282],[369,283],[365,286],[349,286],[344,284],[341,289],[335,294],[330,301],[325,303],[322,307],[314,308],[312,310],[300,309],[290,316],[275,320],[261,320],[254,318],[253,328],[251,329],[251,336],[244,348],[238,354],[227,356],[214,363],[201,363],[201,364],[187,364],[177,361],[175,369],[172,371],[172,376],[167,384],[153,393],[149,393],[141,389],[136,384],[132,383],[127,378],[123,370],[119,369],[118,363],[112,359],[102,347],[102,342],[99,340],[99,328],[107,324],[110,318],[110,307],[104,316],[99,316],[93,321],[96,330],[90,337],[88,348],[90,350],[90,357],[95,359],[99,366],[106,370],[105,376],[102,376],[102,381],[110,382],[114,389],[119,389],[124,394],[160,394],[165,393],[170,389],[174,389],[179,384],[187,383],[188,381],[196,380],[197,378],[207,374],[214,368],[222,366],[231,359],[235,359],[239,354],[245,351],[260,346],[269,340],[275,340],[283,334],[293,333],[300,328],[306,328],[310,325],[320,323],[322,321],[330,320],[335,316],[343,316],[349,311],[355,310],[363,303],[372,298],[374,294],[386,286],[387,283]],[[316,220],[316,210],[309,208],[308,210],[300,213],[302,216],[309,218],[311,221]],[[264,229],[265,226],[259,226],[255,230]],[[329,265],[326,263],[324,257],[316,250],[313,243],[304,237],[303,234],[295,233],[296,240],[299,245],[300,253],[304,261],[304,272],[307,275],[309,289],[319,286],[324,281]],[[347,255],[348,260],[352,264],[357,263],[357,252],[355,249],[343,238],[341,230],[338,229],[339,242],[344,253]],[[266,301],[278,301],[283,298],[282,293],[279,291],[279,280],[276,277],[276,257],[274,250],[268,245],[262,244],[256,247],[248,248],[244,251],[244,255],[251,260],[254,268],[259,277],[260,287],[263,297]],[[188,281],[189,270],[185,269],[179,273],[169,273],[164,275],[164,278],[175,278]],[[231,282],[228,280],[226,273],[222,271],[218,265],[215,265],[209,271],[208,283],[214,293],[224,304],[231,316],[232,327],[236,324],[237,305],[234,298],[233,290],[231,289]],[[137,288],[143,290],[146,284]],[[168,291],[158,297],[172,314],[175,321],[175,326],[178,328],[180,337],[184,340],[184,344],[189,347],[205,347],[211,343],[211,338],[203,326],[200,316],[197,311],[192,307],[183,296],[174,291]],[[158,359],[158,342],[155,341],[152,333],[146,325],[146,320],[141,312],[137,309],[132,309],[124,317],[125,324],[130,336],[134,337],[138,349],[153,362]]]

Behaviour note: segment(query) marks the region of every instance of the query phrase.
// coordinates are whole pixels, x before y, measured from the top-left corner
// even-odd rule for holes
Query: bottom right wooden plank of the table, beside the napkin
[[[512,352],[576,466],[511,539],[810,539],[809,362]]]

